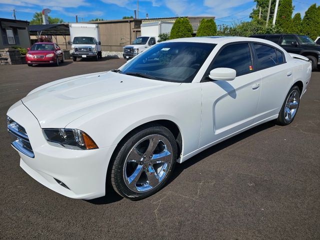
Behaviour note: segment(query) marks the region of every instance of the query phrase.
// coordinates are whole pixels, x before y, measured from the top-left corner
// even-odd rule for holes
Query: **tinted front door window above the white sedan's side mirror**
[[[215,57],[210,70],[217,67],[233,68],[237,76],[252,71],[249,45],[247,43],[239,43],[224,47]]]

